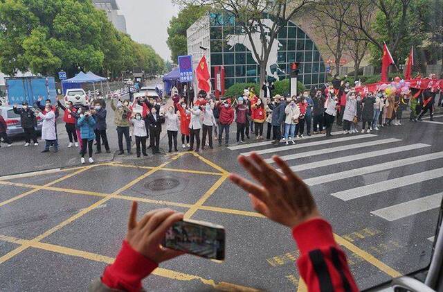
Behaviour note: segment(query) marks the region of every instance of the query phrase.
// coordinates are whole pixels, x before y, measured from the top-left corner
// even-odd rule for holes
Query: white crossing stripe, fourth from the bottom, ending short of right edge
[[[410,151],[410,150],[415,150],[415,149],[424,148],[424,147],[428,147],[428,146],[431,146],[431,145],[417,143],[417,144],[411,144],[411,145],[406,145],[406,146],[399,146],[399,147],[388,148],[388,149],[383,149],[383,150],[379,150],[379,151],[370,151],[370,152],[356,154],[356,155],[332,158],[330,160],[320,160],[318,162],[309,162],[307,164],[300,164],[300,165],[296,165],[296,166],[291,166],[291,169],[292,169],[292,171],[304,171],[306,169],[316,169],[318,167],[329,166],[329,165],[339,164],[339,163],[343,163],[343,162],[352,162],[352,161],[356,161],[356,160],[363,160],[366,158],[377,157],[377,156],[382,156],[382,155],[389,155],[392,153],[399,153],[401,151]]]

